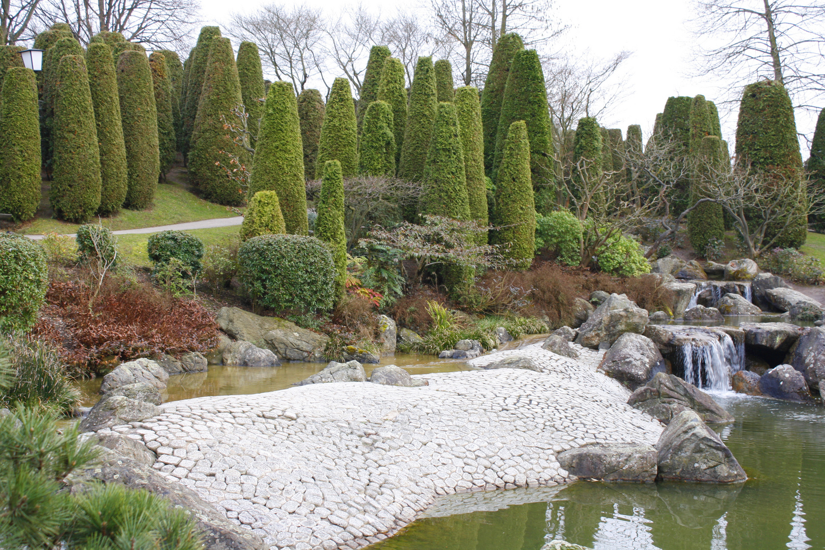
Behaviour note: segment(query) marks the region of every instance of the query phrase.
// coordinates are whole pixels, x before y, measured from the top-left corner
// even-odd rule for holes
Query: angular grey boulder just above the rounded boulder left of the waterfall
[[[643,333],[648,312],[630,301],[625,294],[610,294],[579,328],[576,343],[597,348],[601,342],[613,345],[625,332]]]

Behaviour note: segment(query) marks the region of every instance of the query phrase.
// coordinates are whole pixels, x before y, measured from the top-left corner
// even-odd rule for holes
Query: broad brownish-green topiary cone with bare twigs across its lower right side
[[[229,162],[224,151],[237,154],[242,164],[249,164],[249,153],[233,142],[220,120],[221,116],[229,120],[233,108],[242,101],[232,43],[228,38],[215,38],[192,130],[189,179],[200,186],[206,200],[218,204],[241,204],[243,201],[243,190],[238,183],[230,180],[224,168],[216,165],[217,162]]]

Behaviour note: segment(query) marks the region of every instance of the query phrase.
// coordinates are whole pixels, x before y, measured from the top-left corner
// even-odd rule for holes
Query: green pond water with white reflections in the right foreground
[[[370,550],[539,550],[556,538],[596,550],[825,548],[825,408],[714,397],[737,419],[722,437],[747,471],[743,485],[578,482],[496,491],[498,505],[526,504],[494,510],[493,498],[475,504],[486,511],[472,511],[471,503],[457,510],[465,513],[419,519]]]

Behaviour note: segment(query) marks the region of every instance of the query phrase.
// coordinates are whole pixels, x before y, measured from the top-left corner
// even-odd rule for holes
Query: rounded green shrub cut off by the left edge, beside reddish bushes
[[[0,233],[0,333],[34,326],[48,288],[43,247],[26,237]]]

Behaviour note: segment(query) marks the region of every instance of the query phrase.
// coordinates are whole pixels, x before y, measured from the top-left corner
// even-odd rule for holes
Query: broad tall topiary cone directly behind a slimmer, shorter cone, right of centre
[[[502,101],[502,116],[498,121],[493,174],[502,162],[508,130],[516,120],[524,120],[527,124],[536,206],[540,212],[549,212],[555,204],[555,174],[550,162],[554,156],[553,125],[550,122],[544,72],[535,49],[522,49],[513,56]]]

